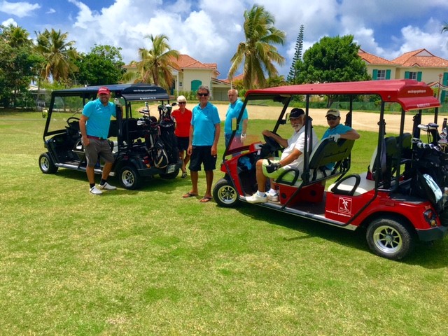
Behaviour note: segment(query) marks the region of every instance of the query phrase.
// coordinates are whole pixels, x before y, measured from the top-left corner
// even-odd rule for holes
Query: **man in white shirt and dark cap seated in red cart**
[[[305,141],[305,128],[304,120],[305,113],[302,109],[292,109],[289,115],[291,127],[294,129],[293,135],[289,139],[283,139],[268,130],[262,132],[267,137],[272,137],[278,144],[280,144],[285,150],[281,153],[281,158],[270,158],[269,160],[258,160],[255,166],[255,174],[258,184],[258,191],[252,196],[246,197],[246,201],[249,203],[263,203],[267,200],[274,202],[279,200],[279,195],[274,189],[270,189],[266,193],[266,180],[267,178],[273,180],[281,175],[285,169],[299,169],[300,174],[303,171],[303,153],[304,153],[304,141]],[[311,130],[312,146],[316,146],[318,139],[314,130]],[[309,144],[310,146],[310,144]],[[271,183],[272,186],[272,183]]]

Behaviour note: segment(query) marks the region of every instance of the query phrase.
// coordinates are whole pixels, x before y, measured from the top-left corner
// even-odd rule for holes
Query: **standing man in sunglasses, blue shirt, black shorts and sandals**
[[[214,169],[216,169],[216,158],[218,156],[218,139],[221,134],[221,119],[218,109],[209,102],[210,90],[206,85],[197,89],[199,104],[193,108],[191,118],[190,137],[187,153],[190,155],[190,177],[192,189],[183,195],[183,198],[196,197],[197,180],[201,165],[204,166],[207,190],[200,202],[209,202],[212,199],[211,185],[213,184]]]

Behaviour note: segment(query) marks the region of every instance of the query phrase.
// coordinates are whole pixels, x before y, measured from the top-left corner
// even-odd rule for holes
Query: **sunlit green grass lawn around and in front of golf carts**
[[[44,123],[0,114],[0,335],[448,335],[447,239],[394,262],[362,233],[183,200],[188,179],[95,197],[41,173]]]

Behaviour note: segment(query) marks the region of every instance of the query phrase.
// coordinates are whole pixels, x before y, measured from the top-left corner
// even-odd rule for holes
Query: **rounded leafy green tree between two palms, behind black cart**
[[[119,83],[123,77],[121,48],[95,45],[87,55],[76,60],[76,82],[81,85],[106,85]]]

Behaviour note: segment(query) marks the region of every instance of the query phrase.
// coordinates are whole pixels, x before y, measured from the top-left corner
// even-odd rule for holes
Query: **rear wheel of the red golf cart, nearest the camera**
[[[367,244],[377,255],[390,260],[401,260],[411,253],[415,238],[398,218],[377,218],[365,234]]]

